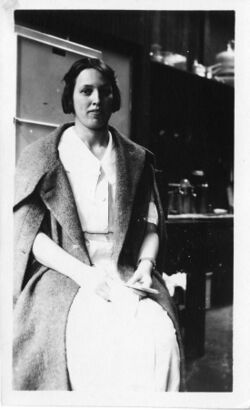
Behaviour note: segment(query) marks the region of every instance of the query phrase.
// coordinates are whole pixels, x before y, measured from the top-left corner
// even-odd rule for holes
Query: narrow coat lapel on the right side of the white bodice
[[[145,162],[145,150],[113,128],[111,130],[116,149],[114,259],[117,261],[128,230],[135,192]]]

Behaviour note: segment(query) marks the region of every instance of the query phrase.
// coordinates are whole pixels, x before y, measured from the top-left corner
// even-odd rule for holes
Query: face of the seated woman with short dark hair
[[[105,128],[112,114],[112,87],[99,71],[86,68],[76,78],[73,103],[77,122],[92,130]]]

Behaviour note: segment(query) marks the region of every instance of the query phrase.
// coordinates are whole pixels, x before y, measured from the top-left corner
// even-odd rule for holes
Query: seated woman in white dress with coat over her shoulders
[[[109,66],[83,58],[64,81],[74,123],[17,169],[14,388],[178,391],[152,154],[108,125],[120,108]]]

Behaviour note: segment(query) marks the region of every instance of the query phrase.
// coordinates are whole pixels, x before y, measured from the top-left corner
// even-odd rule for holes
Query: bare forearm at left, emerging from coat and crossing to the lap
[[[79,286],[95,288],[102,280],[104,281],[104,271],[73,257],[44,233],[38,233],[32,251],[42,265],[70,277]]]

